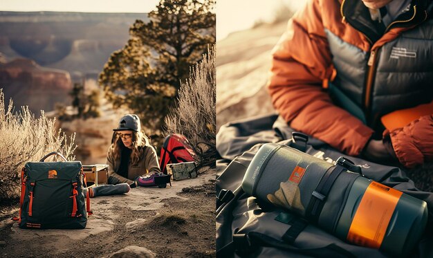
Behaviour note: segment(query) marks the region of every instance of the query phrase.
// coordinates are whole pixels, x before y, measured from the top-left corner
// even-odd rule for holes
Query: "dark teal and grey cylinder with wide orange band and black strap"
[[[407,255],[427,223],[427,204],[371,181],[344,158],[333,165],[267,143],[252,158],[244,192],[307,218],[340,239]]]

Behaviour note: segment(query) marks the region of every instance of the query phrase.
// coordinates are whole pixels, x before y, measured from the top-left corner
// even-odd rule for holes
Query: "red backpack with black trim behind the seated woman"
[[[169,163],[183,163],[194,161],[196,157],[195,152],[192,150],[190,142],[181,134],[170,134],[167,136],[161,149],[159,160],[159,167],[161,172],[167,174],[165,165]]]

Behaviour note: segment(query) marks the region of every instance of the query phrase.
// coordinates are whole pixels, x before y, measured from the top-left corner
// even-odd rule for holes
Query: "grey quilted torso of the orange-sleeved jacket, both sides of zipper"
[[[353,7],[360,8],[359,3],[362,5],[362,1],[358,1]],[[391,111],[415,107],[433,99],[433,20],[423,21],[427,12],[412,8],[407,16],[417,17],[418,25],[378,48],[371,59],[370,52],[325,30],[337,71],[330,86],[331,96],[371,127],[377,127],[379,118]],[[347,21],[357,29],[362,28],[359,19],[352,17]],[[367,87],[372,60],[374,77],[371,86]]]

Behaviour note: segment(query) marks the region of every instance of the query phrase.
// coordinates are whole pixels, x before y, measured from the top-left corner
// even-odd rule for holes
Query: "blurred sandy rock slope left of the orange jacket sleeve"
[[[271,50],[286,21],[228,35],[216,43],[216,128],[274,111],[266,91]]]

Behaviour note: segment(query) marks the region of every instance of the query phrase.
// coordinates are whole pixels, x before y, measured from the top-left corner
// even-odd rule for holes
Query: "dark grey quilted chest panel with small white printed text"
[[[431,26],[430,20],[380,48],[372,98],[374,113],[385,114],[433,99]]]

